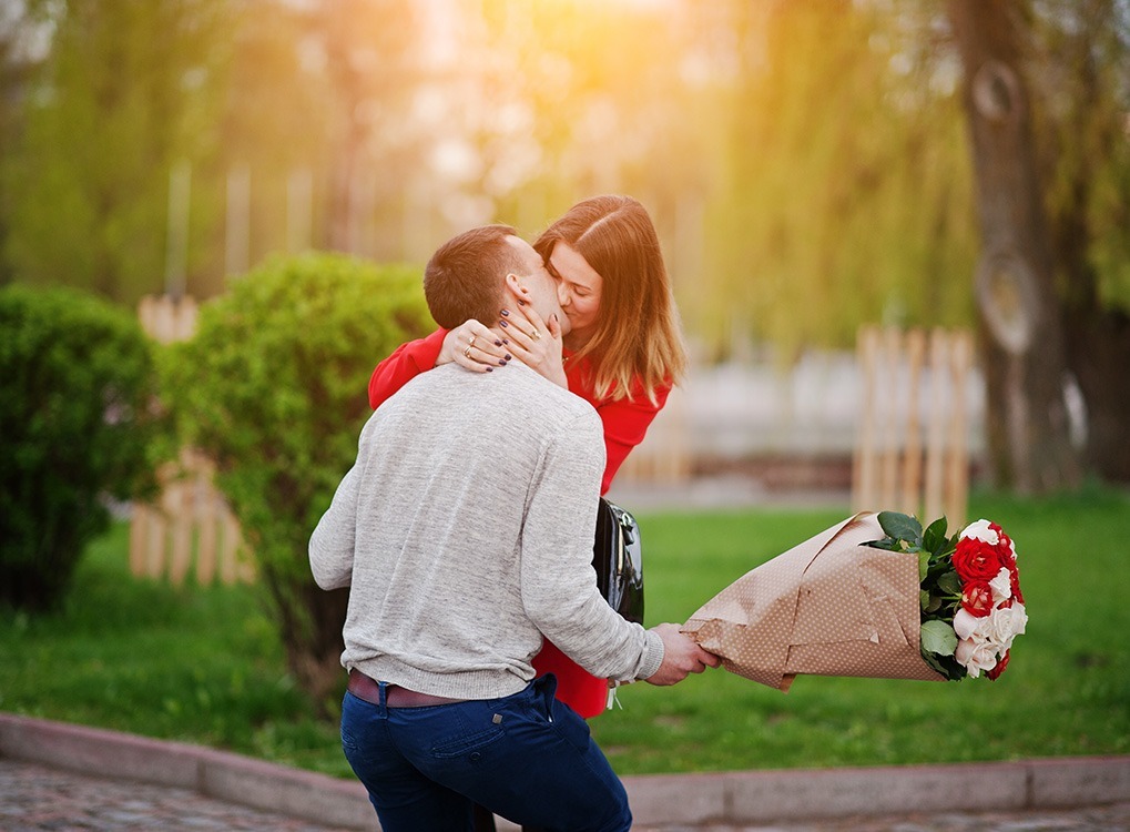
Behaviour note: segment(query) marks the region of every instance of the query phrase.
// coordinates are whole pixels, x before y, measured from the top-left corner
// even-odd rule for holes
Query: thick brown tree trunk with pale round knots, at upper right
[[[998,485],[1022,493],[1075,486],[1067,354],[1053,281],[1032,115],[1007,0],[950,0],[977,181],[983,254],[976,297]]]

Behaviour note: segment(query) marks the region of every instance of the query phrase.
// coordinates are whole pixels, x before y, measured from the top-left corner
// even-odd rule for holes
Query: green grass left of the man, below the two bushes
[[[258,591],[136,580],[128,535],[90,547],[56,614],[0,612],[0,710],[351,775]]]

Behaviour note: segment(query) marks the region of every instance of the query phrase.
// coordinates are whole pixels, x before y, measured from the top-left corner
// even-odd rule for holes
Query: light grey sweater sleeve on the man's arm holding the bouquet
[[[542,634],[593,676],[647,678],[663,660],[662,641],[609,607],[592,571],[602,457],[591,411],[546,449],[522,529],[522,601]]]

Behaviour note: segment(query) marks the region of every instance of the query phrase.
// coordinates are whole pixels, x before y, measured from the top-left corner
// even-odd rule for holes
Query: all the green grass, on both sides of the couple
[[[1016,540],[1029,623],[997,682],[800,677],[782,694],[723,670],[621,688],[592,721],[618,772],[1130,753],[1130,496],[974,495]],[[642,514],[649,623],[684,621],[834,510]],[[0,710],[174,738],[349,775],[337,723],[286,673],[247,587],[138,581],[116,526],[56,614],[0,612]]]

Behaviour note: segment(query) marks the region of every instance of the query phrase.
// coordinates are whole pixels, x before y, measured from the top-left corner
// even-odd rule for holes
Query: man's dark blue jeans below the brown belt
[[[478,803],[524,826],[632,827],[624,785],[553,675],[513,696],[426,708],[346,693],[341,745],[384,832],[472,829]]]

